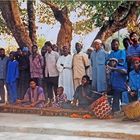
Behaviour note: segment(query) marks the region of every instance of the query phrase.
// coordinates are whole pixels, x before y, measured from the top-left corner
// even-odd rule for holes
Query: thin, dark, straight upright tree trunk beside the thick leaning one
[[[36,25],[35,25],[35,9],[34,9],[34,0],[27,1],[27,13],[28,13],[28,28],[29,36],[33,44],[36,44]]]

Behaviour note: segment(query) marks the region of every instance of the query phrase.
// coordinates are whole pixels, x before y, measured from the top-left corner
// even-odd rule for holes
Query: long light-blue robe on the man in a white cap
[[[104,49],[93,51],[91,53],[92,66],[92,88],[101,92],[107,89],[105,63],[108,53]]]

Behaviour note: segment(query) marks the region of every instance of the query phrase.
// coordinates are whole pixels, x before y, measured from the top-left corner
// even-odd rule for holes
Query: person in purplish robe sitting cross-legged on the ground
[[[30,80],[30,87],[27,89],[27,92],[23,100],[17,100],[17,104],[25,107],[44,107],[45,96],[43,88],[37,86],[37,81],[35,79]]]

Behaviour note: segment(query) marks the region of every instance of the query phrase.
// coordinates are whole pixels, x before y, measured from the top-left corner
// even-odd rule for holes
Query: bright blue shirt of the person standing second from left
[[[15,82],[18,77],[19,77],[18,62],[16,60],[14,61],[10,60],[7,65],[6,82],[9,84]]]

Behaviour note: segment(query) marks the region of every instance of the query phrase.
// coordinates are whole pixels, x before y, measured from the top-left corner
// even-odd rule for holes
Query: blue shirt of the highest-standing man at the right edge
[[[140,57],[140,44],[131,45],[128,47],[127,56]]]

